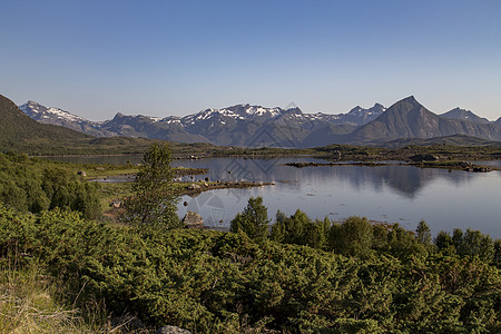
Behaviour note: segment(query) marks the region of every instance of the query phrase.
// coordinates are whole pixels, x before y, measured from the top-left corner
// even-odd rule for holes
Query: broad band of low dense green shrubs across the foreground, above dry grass
[[[296,220],[282,230],[325,228],[301,212],[281,219]],[[429,252],[399,226],[380,230],[356,217],[345,224],[318,244],[341,255],[256,243],[243,232],[140,229],[58,209],[33,216],[0,207],[0,254],[42,263],[71,283],[78,299],[104,298],[114,314],[194,333],[501,330],[501,275],[491,265],[499,254],[488,259],[452,252],[454,245]],[[462,235],[461,243],[470,239]]]

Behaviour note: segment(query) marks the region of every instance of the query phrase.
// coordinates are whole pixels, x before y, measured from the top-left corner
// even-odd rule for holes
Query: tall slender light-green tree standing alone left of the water
[[[166,228],[180,226],[176,214],[179,196],[173,181],[175,171],[170,160],[167,145],[154,144],[145,154],[132,184],[134,196],[124,202],[127,222]]]

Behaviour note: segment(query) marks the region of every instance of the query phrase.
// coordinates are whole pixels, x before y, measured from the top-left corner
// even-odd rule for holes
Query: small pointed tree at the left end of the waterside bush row
[[[264,240],[268,234],[268,209],[263,205],[263,197],[250,197],[244,212],[232,220],[232,232],[244,232],[249,238]]]

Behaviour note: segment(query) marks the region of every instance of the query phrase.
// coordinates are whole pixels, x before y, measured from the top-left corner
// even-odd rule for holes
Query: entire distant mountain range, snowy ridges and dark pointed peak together
[[[210,108],[185,117],[158,118],[118,112],[112,119],[100,122],[35,101],[28,101],[19,108],[40,122],[59,125],[96,137],[144,137],[220,146],[382,145],[397,139],[452,135],[501,140],[501,118],[491,122],[460,108],[436,115],[412,96],[387,109],[375,104],[369,109],[357,106],[338,115],[305,114],[299,108],[265,108],[247,104],[224,109]]]

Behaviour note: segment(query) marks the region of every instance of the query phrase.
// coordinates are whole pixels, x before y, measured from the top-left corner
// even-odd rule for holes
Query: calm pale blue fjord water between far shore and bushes
[[[218,189],[196,197],[184,196],[180,217],[189,209],[208,226],[228,227],[252,196],[263,196],[268,216],[279,209],[292,215],[299,208],[311,218],[341,220],[352,215],[370,220],[399,223],[414,230],[424,219],[433,235],[453,228],[480,229],[501,237],[501,171],[466,173],[394,165],[369,167],[295,168],[288,161],[311,158],[176,160],[173,165],[204,167],[196,179],[273,181],[258,188]],[[188,206],[183,203],[187,202]]]

